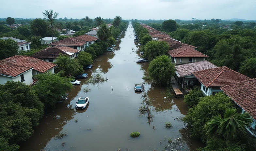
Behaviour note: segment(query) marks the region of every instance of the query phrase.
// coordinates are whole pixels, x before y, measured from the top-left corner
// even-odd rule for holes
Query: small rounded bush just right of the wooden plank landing
[[[194,105],[197,105],[202,97],[204,97],[203,92],[199,88],[195,88],[184,96],[184,102],[189,107],[192,107]]]

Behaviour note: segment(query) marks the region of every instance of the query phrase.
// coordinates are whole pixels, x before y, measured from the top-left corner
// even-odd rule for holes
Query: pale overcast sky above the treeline
[[[256,0],[0,0],[0,18],[43,18],[46,9],[73,19],[256,20]]]

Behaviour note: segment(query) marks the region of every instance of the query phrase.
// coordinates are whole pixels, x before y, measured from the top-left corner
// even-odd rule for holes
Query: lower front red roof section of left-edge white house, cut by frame
[[[16,77],[30,69],[32,69],[32,67],[25,67],[0,60],[0,75]]]

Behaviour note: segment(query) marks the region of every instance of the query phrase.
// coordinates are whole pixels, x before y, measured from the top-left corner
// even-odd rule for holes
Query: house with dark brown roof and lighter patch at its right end
[[[56,58],[59,56],[59,54],[64,54],[69,56],[70,59],[74,59],[77,57],[78,52],[79,50],[74,48],[55,46],[42,49],[41,51],[33,54],[31,57],[38,58],[46,62],[56,62]]]

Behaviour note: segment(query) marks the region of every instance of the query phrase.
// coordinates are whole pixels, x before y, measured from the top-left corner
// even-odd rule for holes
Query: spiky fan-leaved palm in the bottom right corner
[[[237,111],[235,108],[228,108],[223,116],[218,114],[205,122],[205,134],[210,142],[212,143],[216,140],[224,142],[219,143],[224,145],[218,147],[213,147],[208,142],[207,149],[218,150],[236,147],[240,150],[255,150],[256,138],[246,130],[246,127],[251,126],[253,118],[248,113],[241,114],[237,113]]]

